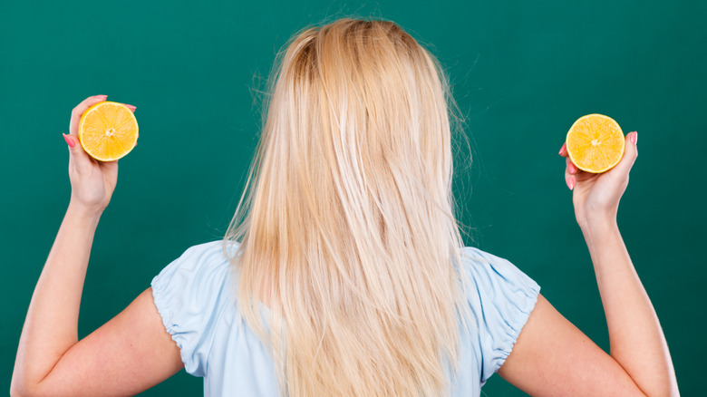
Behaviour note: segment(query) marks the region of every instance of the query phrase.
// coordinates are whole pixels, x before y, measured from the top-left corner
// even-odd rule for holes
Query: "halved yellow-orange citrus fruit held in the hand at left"
[[[138,141],[138,121],[122,103],[96,103],[81,116],[79,141],[93,159],[121,159]]]

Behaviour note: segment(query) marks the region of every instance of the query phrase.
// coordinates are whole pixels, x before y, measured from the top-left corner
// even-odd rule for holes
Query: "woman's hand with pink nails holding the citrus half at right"
[[[628,174],[638,156],[635,143],[638,133],[629,132],[625,140],[624,156],[613,169],[601,174],[577,169],[569,160],[566,144],[562,145],[559,155],[567,158],[565,181],[573,190],[572,201],[580,228],[591,227],[597,222],[615,222],[619,200],[628,186]]]

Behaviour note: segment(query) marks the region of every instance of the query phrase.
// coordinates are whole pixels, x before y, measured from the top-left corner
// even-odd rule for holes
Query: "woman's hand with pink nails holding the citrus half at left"
[[[79,121],[81,115],[92,105],[103,102],[106,95],[86,98],[73,108],[69,123],[69,135],[64,140],[69,145],[69,179],[72,184],[70,206],[100,215],[111,201],[118,181],[118,161],[99,161],[86,153],[79,141]],[[134,106],[129,106],[135,111]]]

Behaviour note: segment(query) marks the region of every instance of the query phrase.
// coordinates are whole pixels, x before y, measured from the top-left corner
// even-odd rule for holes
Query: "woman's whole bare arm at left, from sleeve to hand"
[[[181,368],[179,348],[161,324],[150,289],[120,315],[78,340],[83,281],[93,236],[117,180],[117,162],[92,160],[76,138],[82,112],[72,113],[69,173],[72,199],[47,257],[24,322],[12,395],[124,395]]]

